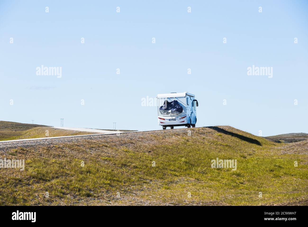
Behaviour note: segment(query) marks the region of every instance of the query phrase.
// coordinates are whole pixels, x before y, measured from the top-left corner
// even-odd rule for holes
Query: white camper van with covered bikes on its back
[[[196,126],[197,114],[196,107],[198,101],[195,95],[188,92],[158,94],[158,125],[163,129],[174,126]]]

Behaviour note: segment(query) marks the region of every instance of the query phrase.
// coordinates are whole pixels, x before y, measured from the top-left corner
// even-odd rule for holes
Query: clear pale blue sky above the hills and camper
[[[188,91],[197,127],[308,132],[307,11],[307,1],[2,0],[0,120],[161,129],[142,98]],[[41,65],[61,78],[37,75]],[[272,78],[247,75],[253,65]]]

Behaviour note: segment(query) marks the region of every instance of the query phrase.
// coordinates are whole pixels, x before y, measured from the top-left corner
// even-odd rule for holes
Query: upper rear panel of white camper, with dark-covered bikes
[[[158,103],[162,115],[176,116],[185,112],[185,97],[158,98]]]

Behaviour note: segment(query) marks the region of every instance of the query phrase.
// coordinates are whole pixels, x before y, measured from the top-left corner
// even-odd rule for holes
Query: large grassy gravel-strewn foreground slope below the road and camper
[[[0,149],[26,160],[0,169],[1,205],[308,205],[308,141],[218,126],[38,143]]]

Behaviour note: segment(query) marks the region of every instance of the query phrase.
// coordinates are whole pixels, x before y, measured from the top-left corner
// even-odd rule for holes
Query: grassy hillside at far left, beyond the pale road
[[[47,137],[46,130],[49,133],[48,137],[98,134],[97,132],[80,132],[50,128],[39,124],[0,121],[0,141]]]

